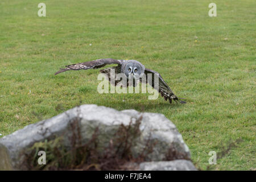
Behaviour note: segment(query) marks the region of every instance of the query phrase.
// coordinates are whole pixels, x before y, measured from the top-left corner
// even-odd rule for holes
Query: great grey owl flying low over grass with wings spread
[[[164,100],[169,100],[171,103],[172,100],[179,101],[181,104],[185,104],[185,101],[181,101],[179,97],[175,96],[175,94],[172,92],[170,87],[166,84],[166,82],[163,80],[162,76],[156,71],[153,71],[151,69],[147,69],[144,67],[143,64],[139,63],[139,61],[136,60],[116,60],[116,59],[97,59],[93,61],[87,61],[84,63],[77,63],[77,64],[71,64],[67,65],[67,68],[60,68],[60,71],[56,72],[55,75],[69,71],[69,70],[80,70],[80,69],[97,69],[101,67],[105,67],[107,64],[118,64],[117,67],[110,67],[106,69],[101,69],[101,73],[105,73],[110,81],[110,70],[114,69],[116,76],[118,73],[123,73],[127,80],[130,78],[133,78],[134,80],[138,80],[143,82],[144,84],[150,84],[154,89],[158,90],[158,92],[161,94],[162,97],[164,97]],[[144,73],[144,74],[143,74]],[[151,74],[150,81],[148,80],[148,74]],[[142,80],[142,75],[146,76],[146,81]],[[154,77],[154,75],[157,75]],[[158,84],[156,84],[156,79],[158,79]],[[127,86],[135,86],[135,82],[133,82],[133,85],[128,85],[129,81],[127,81]],[[117,81],[114,82],[114,85],[116,86],[118,84]]]

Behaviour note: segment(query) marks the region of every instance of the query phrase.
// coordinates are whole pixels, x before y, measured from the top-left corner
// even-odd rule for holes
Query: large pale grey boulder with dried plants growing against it
[[[136,138],[131,151],[136,157],[145,150],[148,139],[156,141],[154,150],[146,161],[161,161],[172,150],[175,159],[190,159],[191,154],[175,125],[163,114],[139,113],[136,110],[118,111],[97,105],[81,105],[50,119],[34,123],[0,138],[0,170],[24,169],[24,151],[36,142],[63,137],[64,146],[71,146],[74,132],[81,134],[81,143],[87,143],[98,128],[100,150],[109,144],[120,125],[128,126],[140,117],[141,135]],[[75,131],[74,131],[75,127]]]

